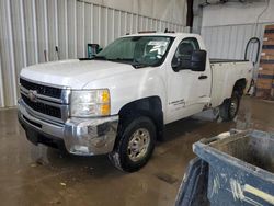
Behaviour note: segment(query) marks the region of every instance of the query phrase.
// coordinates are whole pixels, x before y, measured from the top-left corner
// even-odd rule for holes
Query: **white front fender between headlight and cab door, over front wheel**
[[[111,93],[111,114],[116,115],[124,105],[149,96],[159,96],[162,110],[165,111],[164,82],[163,69],[150,67],[95,80],[88,83],[84,89],[107,88]]]

